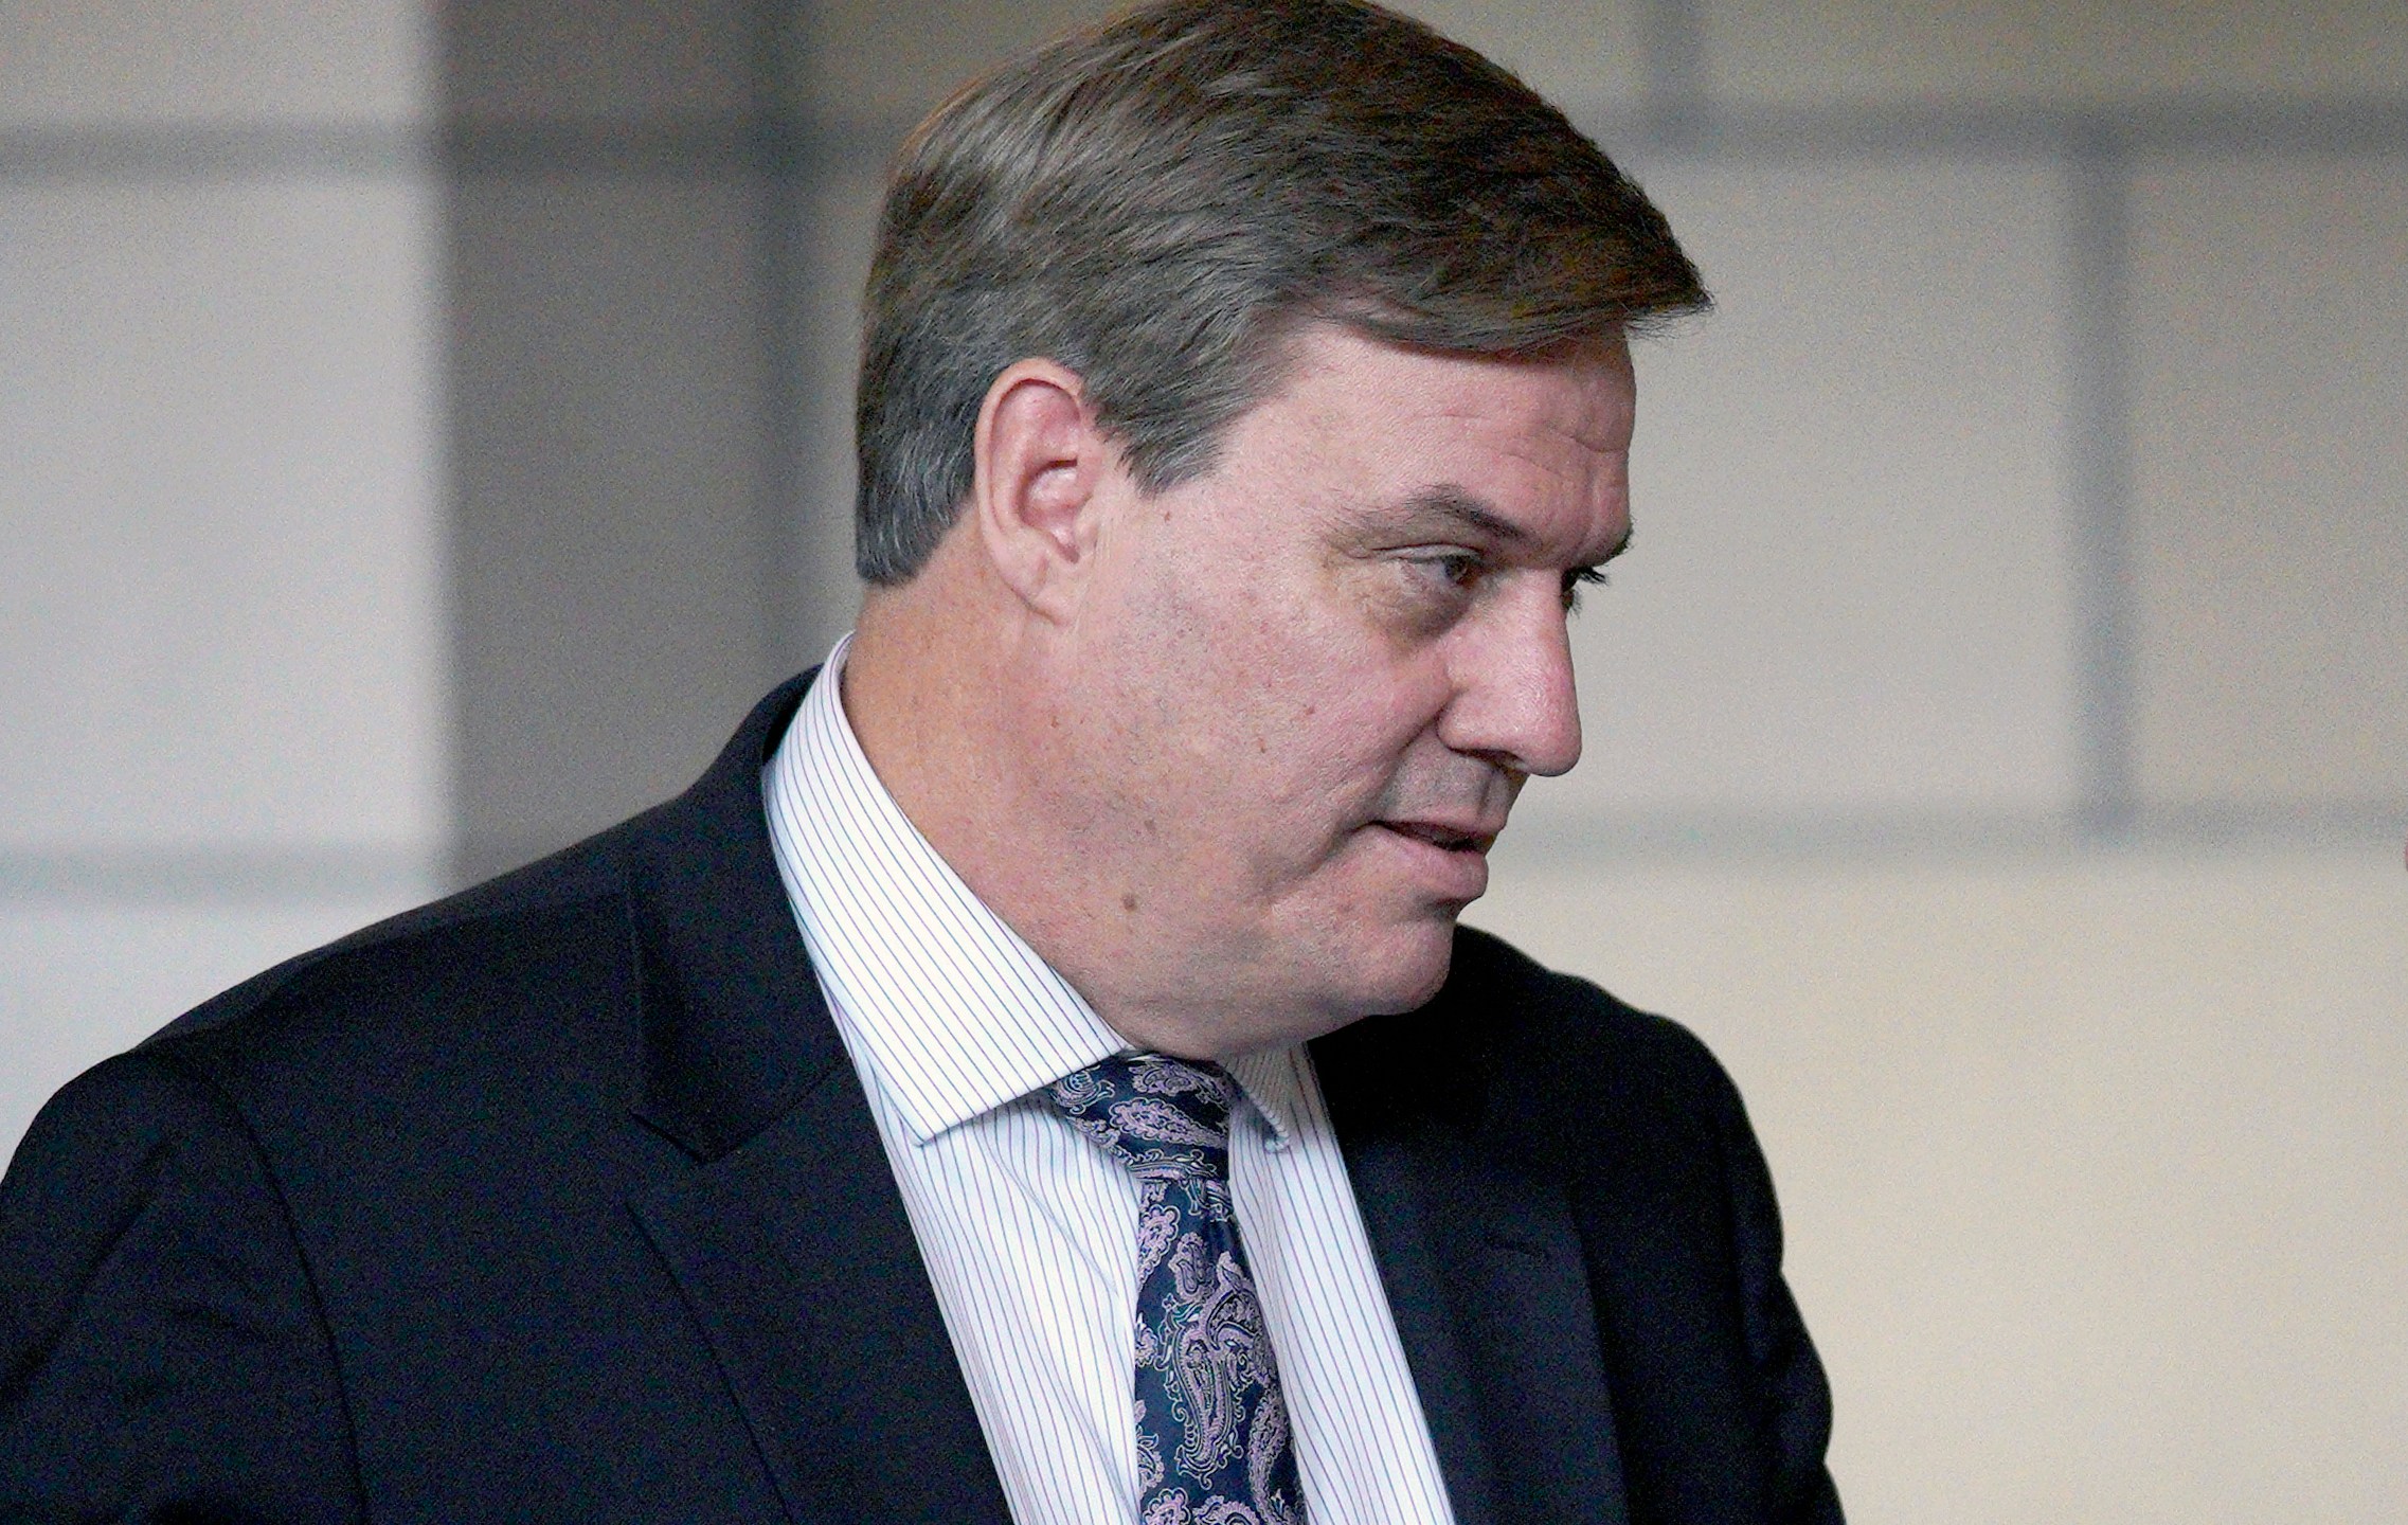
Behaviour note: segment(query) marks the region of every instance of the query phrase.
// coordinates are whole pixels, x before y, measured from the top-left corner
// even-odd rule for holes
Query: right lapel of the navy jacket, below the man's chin
[[[1479,1123],[1464,1021],[1440,1002],[1315,1043],[1447,1494],[1462,1525],[1628,1525],[1570,1205]]]

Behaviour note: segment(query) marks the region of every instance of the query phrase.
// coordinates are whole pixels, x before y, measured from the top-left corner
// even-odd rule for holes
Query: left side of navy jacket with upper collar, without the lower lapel
[[[0,1183],[0,1518],[780,1515],[631,1200],[840,1058],[763,872],[797,696],[681,800],[43,1108]]]

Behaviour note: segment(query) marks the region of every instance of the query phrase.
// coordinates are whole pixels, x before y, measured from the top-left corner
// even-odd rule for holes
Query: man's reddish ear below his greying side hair
[[[970,513],[987,561],[1040,617],[1067,617],[1096,557],[1096,487],[1112,463],[1086,383],[1050,359],[1004,366],[978,410],[973,451]]]

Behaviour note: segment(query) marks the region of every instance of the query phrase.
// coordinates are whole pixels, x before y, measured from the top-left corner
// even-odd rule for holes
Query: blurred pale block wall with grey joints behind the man
[[[2408,12],[1416,10],[1722,299],[1471,920],[1739,1074],[1852,1515],[2408,1518]],[[1084,12],[0,2],[0,1149],[816,660],[881,164]]]

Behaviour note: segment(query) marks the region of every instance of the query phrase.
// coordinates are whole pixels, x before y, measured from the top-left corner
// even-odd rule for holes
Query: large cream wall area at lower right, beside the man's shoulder
[[[1741,1084],[1849,1520],[2408,1518],[2396,848],[1527,872]]]

